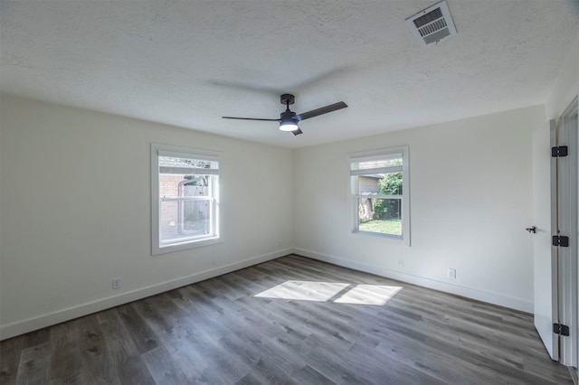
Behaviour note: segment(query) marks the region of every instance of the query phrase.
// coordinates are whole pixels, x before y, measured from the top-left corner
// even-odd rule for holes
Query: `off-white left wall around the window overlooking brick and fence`
[[[288,149],[6,95],[1,109],[2,338],[289,252]],[[221,152],[223,243],[151,256],[151,142]]]

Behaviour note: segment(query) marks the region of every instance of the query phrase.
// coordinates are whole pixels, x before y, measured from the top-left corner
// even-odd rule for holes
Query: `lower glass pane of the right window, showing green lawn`
[[[358,230],[402,236],[402,199],[358,198]]]

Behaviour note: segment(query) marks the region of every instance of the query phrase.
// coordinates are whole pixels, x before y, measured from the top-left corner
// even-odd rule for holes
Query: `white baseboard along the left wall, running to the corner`
[[[155,296],[159,293],[173,290],[177,287],[191,285],[195,282],[203,281],[204,279],[221,276],[241,268],[248,268],[261,262],[280,258],[288,255],[289,253],[291,253],[291,249],[281,249],[270,254],[264,254],[254,258],[244,259],[230,265],[205,270],[199,273],[195,273],[191,276],[177,278],[156,285],[141,287],[136,290],[119,294],[118,296],[109,296],[106,298],[101,298],[97,301],[71,306],[45,315],[38,315],[32,318],[24,319],[12,324],[5,324],[0,326],[0,340],[5,340],[16,335],[42,329],[43,327],[51,326],[53,324],[60,324],[62,322],[69,321],[84,315],[90,315],[101,310],[109,309],[110,307],[127,304],[141,298],[146,298],[147,296]]]

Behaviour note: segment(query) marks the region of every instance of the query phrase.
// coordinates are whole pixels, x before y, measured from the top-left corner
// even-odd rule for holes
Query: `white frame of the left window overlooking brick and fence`
[[[187,159],[195,160],[206,160],[217,162],[216,169],[211,170],[209,173],[212,177],[211,191],[213,192],[213,197],[205,196],[204,198],[198,197],[184,197],[178,199],[176,197],[160,197],[159,193],[159,157],[163,156],[175,156]],[[199,247],[204,247],[208,245],[213,245],[215,243],[223,242],[223,235],[221,231],[221,215],[220,215],[220,176],[221,158],[218,152],[199,150],[194,148],[182,147],[182,146],[167,146],[159,145],[156,143],[151,144],[151,254],[159,255],[166,254],[174,251],[194,249]],[[204,169],[199,169],[204,170]],[[215,171],[216,170],[216,171]],[[199,173],[200,175],[205,173]],[[164,242],[161,235],[161,203],[162,202],[194,202],[201,200],[209,200],[212,202],[212,207],[210,211],[213,212],[212,223],[210,224],[213,230],[207,236],[193,236],[184,239],[176,239],[173,242]]]

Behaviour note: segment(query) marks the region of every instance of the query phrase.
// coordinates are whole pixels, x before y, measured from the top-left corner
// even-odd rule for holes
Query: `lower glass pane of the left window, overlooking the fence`
[[[161,202],[161,241],[211,234],[211,201]]]

